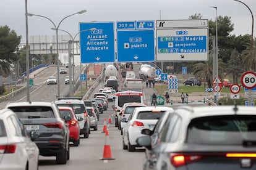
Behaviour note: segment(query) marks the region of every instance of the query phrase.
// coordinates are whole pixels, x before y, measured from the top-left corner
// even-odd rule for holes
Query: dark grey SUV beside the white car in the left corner
[[[59,116],[54,102],[15,102],[6,108],[14,111],[27,129],[38,131],[34,140],[41,156],[56,156],[56,163],[66,164],[69,160],[69,128]],[[68,118],[66,118],[68,121]]]

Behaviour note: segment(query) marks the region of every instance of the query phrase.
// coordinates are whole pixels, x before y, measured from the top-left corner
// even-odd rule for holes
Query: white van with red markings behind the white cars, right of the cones
[[[124,103],[137,102],[144,103],[143,92],[138,91],[122,91],[116,93],[114,102],[115,126],[118,127],[118,116]]]

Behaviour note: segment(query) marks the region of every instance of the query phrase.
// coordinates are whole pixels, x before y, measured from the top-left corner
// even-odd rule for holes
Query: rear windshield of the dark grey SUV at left
[[[19,118],[54,118],[53,109],[43,106],[9,107]]]

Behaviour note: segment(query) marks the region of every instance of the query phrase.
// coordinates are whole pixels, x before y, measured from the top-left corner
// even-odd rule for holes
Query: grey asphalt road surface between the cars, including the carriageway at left
[[[78,70],[80,68],[75,68]],[[67,69],[68,70],[68,69]],[[135,72],[138,73],[139,67],[134,68]],[[30,99],[32,101],[43,101],[43,102],[53,102],[56,100],[57,85],[47,85],[45,83],[48,76],[56,76],[56,67],[49,68],[45,72],[41,73],[37,78],[34,79],[35,86],[32,87]],[[79,75],[79,74],[76,74]],[[60,75],[60,87],[61,95],[69,93],[69,85],[64,84],[64,77],[66,74]],[[138,75],[137,75],[138,76]],[[119,84],[119,87],[121,82]],[[103,82],[98,83],[97,87],[93,90],[92,95],[101,87],[103,87]],[[146,91],[146,89],[145,89]],[[152,89],[147,89],[145,97],[148,97],[153,93]],[[24,91],[19,96],[13,97],[10,101],[26,101],[26,92]],[[23,97],[22,97],[23,96]],[[20,97],[20,100],[19,100]],[[92,96],[89,97],[92,99]],[[145,156],[143,148],[137,148],[135,152],[128,152],[122,149],[122,136],[121,132],[114,127],[114,111],[112,110],[112,105],[114,102],[109,102],[108,110],[104,111],[100,115],[100,121],[98,122],[98,131],[91,131],[88,139],[80,139],[80,145],[74,147],[70,143],[70,160],[67,164],[56,164],[56,158],[40,156],[39,170],[48,169],[111,169],[111,170],[130,170],[130,169],[142,169],[143,158]],[[177,105],[172,106],[176,108]],[[105,133],[103,133],[103,119],[106,118],[107,122],[109,119],[109,114],[111,115],[111,123],[107,124],[109,131],[109,143],[111,146],[111,154],[114,160],[100,160],[103,157],[103,148],[105,146]]]

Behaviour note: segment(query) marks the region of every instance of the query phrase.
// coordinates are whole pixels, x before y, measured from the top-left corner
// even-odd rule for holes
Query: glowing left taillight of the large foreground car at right
[[[175,155],[170,154],[170,161],[174,167],[184,166],[185,164],[194,163],[195,161],[201,160],[203,156],[200,155]]]

